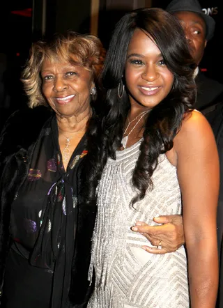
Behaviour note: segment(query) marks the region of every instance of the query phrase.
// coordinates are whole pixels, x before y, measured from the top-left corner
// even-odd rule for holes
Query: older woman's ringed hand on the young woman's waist
[[[185,243],[183,218],[181,215],[154,217],[153,221],[162,225],[148,226],[145,222],[137,222],[132,227],[132,231],[141,233],[153,246],[156,246],[142,246],[147,252],[151,254],[176,252]]]

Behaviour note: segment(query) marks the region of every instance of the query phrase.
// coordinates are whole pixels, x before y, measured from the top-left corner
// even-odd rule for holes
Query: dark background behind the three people
[[[31,43],[68,29],[90,33],[92,0],[12,0],[1,7],[0,17],[0,128],[15,109],[26,105],[20,75]],[[100,0],[98,36],[105,48],[116,22],[134,8],[166,8],[162,0]],[[200,0],[216,22],[215,36],[206,47],[200,68],[223,83],[223,1]],[[44,26],[43,26],[44,25]]]

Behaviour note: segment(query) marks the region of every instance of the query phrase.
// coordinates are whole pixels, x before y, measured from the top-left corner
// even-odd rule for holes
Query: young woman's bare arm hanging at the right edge
[[[196,111],[174,139],[183,198],[192,308],[214,308],[218,286],[216,212],[219,162],[213,132]]]

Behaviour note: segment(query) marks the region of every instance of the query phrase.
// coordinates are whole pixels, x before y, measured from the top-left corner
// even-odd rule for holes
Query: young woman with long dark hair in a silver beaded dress
[[[169,13],[140,9],[118,22],[102,73],[101,133],[88,157],[89,202],[98,185],[89,308],[215,307],[219,164],[213,132],[192,109],[193,68]],[[182,212],[185,247],[142,249],[135,222]]]

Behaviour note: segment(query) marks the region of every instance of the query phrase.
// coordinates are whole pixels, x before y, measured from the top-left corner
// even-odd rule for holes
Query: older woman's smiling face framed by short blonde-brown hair
[[[93,77],[83,66],[45,60],[41,77],[43,95],[57,115],[78,116],[91,108]]]

